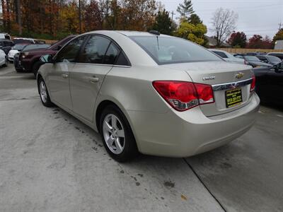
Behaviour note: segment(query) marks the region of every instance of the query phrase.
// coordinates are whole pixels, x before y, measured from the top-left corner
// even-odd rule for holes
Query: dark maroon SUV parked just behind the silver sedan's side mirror
[[[69,35],[65,37],[63,40],[54,43],[54,45],[50,47],[43,47],[37,49],[28,49],[26,47],[20,54],[15,56],[15,69],[16,71],[25,71],[25,72],[33,72],[35,75],[37,74],[38,69],[40,68],[42,62],[40,61],[40,57],[45,54],[56,54],[56,52],[69,40],[71,40],[76,35]]]

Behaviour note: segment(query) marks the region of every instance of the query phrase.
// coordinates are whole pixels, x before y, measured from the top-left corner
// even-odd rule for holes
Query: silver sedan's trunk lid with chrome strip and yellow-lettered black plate
[[[167,68],[185,71],[194,83],[209,84],[214,91],[214,103],[200,105],[206,116],[237,110],[248,104],[253,72],[250,66],[229,62],[207,61],[167,64]]]

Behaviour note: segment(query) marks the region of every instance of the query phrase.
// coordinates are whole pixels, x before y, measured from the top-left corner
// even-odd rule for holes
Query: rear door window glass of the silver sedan
[[[103,64],[109,44],[110,40],[105,37],[91,36],[81,52],[79,61],[88,64]]]

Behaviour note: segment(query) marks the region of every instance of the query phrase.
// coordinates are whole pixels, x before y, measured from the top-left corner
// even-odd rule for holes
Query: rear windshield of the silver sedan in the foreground
[[[131,36],[157,64],[222,61],[209,50],[178,37]]]

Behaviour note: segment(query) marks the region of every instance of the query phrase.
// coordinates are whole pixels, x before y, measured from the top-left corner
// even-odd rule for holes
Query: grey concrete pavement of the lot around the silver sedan
[[[191,158],[117,163],[100,136],[0,68],[0,211],[283,211],[283,110]]]

